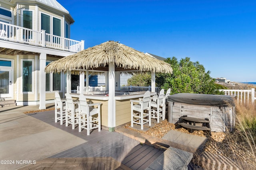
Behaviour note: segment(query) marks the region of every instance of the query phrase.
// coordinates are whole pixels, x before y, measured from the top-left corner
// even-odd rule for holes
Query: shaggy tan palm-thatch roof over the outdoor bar
[[[140,70],[172,73],[170,64],[115,41],[107,41],[54,61],[46,66],[45,72],[70,70],[74,73],[74,70],[86,69],[108,71],[110,62],[115,63],[115,71]]]

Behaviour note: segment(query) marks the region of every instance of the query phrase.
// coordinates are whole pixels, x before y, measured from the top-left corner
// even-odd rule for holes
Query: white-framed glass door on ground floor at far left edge
[[[11,69],[0,68],[0,98],[12,97]]]

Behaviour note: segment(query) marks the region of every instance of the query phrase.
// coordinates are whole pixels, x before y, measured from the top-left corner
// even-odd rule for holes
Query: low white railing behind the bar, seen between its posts
[[[156,87],[157,94],[159,93],[159,87]],[[151,86],[122,86],[120,87],[120,91],[122,92],[142,92],[142,91],[151,91]],[[88,88],[88,92],[98,92],[98,91],[106,91],[106,87],[90,87]],[[79,93],[80,86],[76,87],[76,90],[71,90],[71,93]],[[86,87],[84,87],[84,92],[86,92]]]

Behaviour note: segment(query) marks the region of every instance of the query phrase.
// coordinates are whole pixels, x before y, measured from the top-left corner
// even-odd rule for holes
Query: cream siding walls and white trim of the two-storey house
[[[29,4],[28,4],[29,3]],[[58,18],[61,21],[61,37],[65,37],[65,24],[68,23],[68,37],[70,35],[70,23],[73,23],[73,19],[71,16],[69,16],[68,13],[65,13],[63,11],[60,11],[58,9],[54,9],[51,7],[48,7],[47,5],[44,5],[41,2],[37,1],[12,1],[10,2],[9,0],[3,0],[0,3],[0,8],[11,11],[12,17],[4,16],[0,14],[0,20],[2,21],[9,21],[10,24],[13,25],[18,25],[20,27],[23,27],[23,11],[24,10],[29,10],[32,11],[32,29],[33,31],[41,31],[41,14],[46,14],[51,17],[51,24],[52,24],[52,17]],[[3,29],[2,26],[0,29]],[[6,28],[5,28],[6,29]],[[16,29],[16,28],[15,28]],[[7,31],[7,30],[6,30]],[[18,36],[19,31],[23,32],[23,29],[16,29],[15,31],[10,30],[12,35]],[[52,26],[51,26],[51,33],[52,34]],[[19,36],[21,36],[20,34]],[[68,38],[67,37],[67,38]],[[24,38],[24,37],[23,37]],[[34,37],[33,37],[34,38]],[[22,38],[21,38],[22,39]],[[8,43],[8,49],[12,50],[18,50],[20,48],[20,45],[16,42],[9,41],[8,39],[3,39],[0,37],[0,41],[4,43]],[[32,42],[32,41],[30,41]],[[16,43],[16,44],[15,44]],[[5,49],[6,46],[2,46],[2,43],[0,43],[0,50]],[[10,44],[10,47],[9,47]],[[14,45],[13,45],[14,44]],[[16,46],[17,45],[17,46]],[[18,46],[19,45],[19,46]],[[38,105],[40,101],[40,85],[42,84],[41,79],[40,79],[40,53],[42,53],[42,48],[45,48],[46,50],[46,62],[49,61],[55,61],[58,60],[61,57],[65,57],[70,54],[74,54],[74,52],[70,51],[63,51],[60,50],[60,53],[58,52],[58,49],[51,49],[51,48],[46,48],[46,47],[40,47],[40,49],[35,46],[35,45],[28,45],[24,44],[24,46],[29,46],[27,51],[24,51],[25,54],[16,54],[16,53],[1,53],[0,51],[0,60],[12,60],[12,67],[10,70],[12,71],[12,86],[11,86],[11,91],[12,95],[9,97],[6,97],[5,100],[16,100],[17,105]],[[82,47],[83,48],[83,47]],[[24,49],[23,49],[24,50]],[[31,51],[32,50],[32,51]],[[40,52],[36,52],[36,51]],[[80,49],[82,50],[82,49]],[[50,53],[48,53],[51,51]],[[26,55],[27,54],[27,55]],[[33,73],[32,73],[32,92],[23,92],[22,89],[22,61],[32,61],[33,63]],[[5,66],[0,65],[0,69],[6,69]],[[9,69],[9,68],[8,68]],[[44,70],[44,68],[41,68],[41,70]],[[61,90],[58,90],[60,93],[60,96],[64,98],[64,93],[65,93],[65,85],[64,82],[66,82],[66,77],[64,74],[61,75]],[[45,83],[45,82],[43,82]],[[46,103],[54,103],[54,95],[55,91],[50,91],[50,92],[45,92],[45,100]],[[1,97],[1,94],[0,94]]]

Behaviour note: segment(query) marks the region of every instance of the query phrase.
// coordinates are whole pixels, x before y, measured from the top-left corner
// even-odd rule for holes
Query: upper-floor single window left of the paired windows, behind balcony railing
[[[32,11],[23,11],[23,27],[28,28],[28,29],[33,29],[32,26]],[[23,30],[23,38],[24,39],[31,39],[32,38],[32,33],[31,31],[28,30]]]

